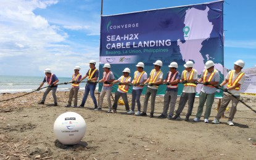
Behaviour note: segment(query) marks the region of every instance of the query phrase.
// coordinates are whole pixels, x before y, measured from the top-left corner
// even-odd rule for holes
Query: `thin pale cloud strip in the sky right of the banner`
[[[244,49],[256,49],[256,40],[251,40],[251,41],[227,40],[227,41],[225,41],[224,46],[225,47],[244,48]]]

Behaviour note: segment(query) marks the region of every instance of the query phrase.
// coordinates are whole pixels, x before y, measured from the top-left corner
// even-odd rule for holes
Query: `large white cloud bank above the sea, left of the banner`
[[[47,9],[58,1],[1,2],[4,5],[0,6],[0,68],[9,68],[9,73],[0,70],[0,74],[27,75],[29,71],[30,76],[40,76],[45,68],[51,68],[59,76],[70,76],[74,66],[86,70],[90,59],[99,59],[98,41],[71,40],[68,33],[68,30],[84,31],[85,35],[99,33],[93,27],[97,23],[79,20],[73,23],[59,17],[59,22],[66,22],[59,25],[35,14],[36,9]]]

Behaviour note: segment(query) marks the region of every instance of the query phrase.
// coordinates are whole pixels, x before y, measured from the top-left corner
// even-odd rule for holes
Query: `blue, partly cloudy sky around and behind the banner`
[[[203,0],[104,0],[103,15],[200,4]],[[256,67],[256,1],[224,2],[224,63],[236,60]],[[44,76],[51,68],[70,77],[76,65],[82,73],[89,60],[99,64],[101,1],[1,0],[0,75]]]

